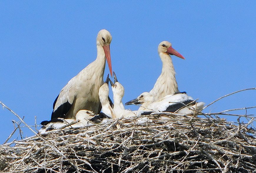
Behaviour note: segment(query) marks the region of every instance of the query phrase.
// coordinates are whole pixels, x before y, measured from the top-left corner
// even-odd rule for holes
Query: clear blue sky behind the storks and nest
[[[209,104],[256,87],[255,1],[1,1],[0,28],[0,100],[29,125],[34,116],[37,124],[50,119],[61,88],[94,61],[101,29],[113,37],[112,68],[125,88],[123,102],[152,89],[164,40],[186,58],[172,56],[179,90],[194,99]],[[107,73],[108,67],[104,78]],[[255,90],[244,91],[205,112],[255,106],[255,98]],[[14,129],[11,120],[18,119],[7,109],[0,118],[3,143]]]

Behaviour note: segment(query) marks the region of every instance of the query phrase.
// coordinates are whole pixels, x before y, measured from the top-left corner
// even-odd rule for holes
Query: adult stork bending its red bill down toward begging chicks
[[[112,36],[107,30],[100,30],[97,39],[97,58],[77,76],[74,76],[65,85],[53,103],[51,119],[65,118],[76,119],[79,110],[86,109],[94,113],[101,110],[99,100],[99,88],[104,83],[103,75],[106,59],[112,76],[110,58],[110,42]]]

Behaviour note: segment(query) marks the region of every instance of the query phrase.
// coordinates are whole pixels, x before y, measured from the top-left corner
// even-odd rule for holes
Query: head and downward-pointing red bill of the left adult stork
[[[110,57],[110,43],[112,40],[112,36],[109,31],[107,30],[100,30],[98,35],[97,35],[97,45],[101,45],[104,49],[105,56],[109,65],[109,71],[110,75],[112,76],[112,66],[111,66],[111,57]]]

